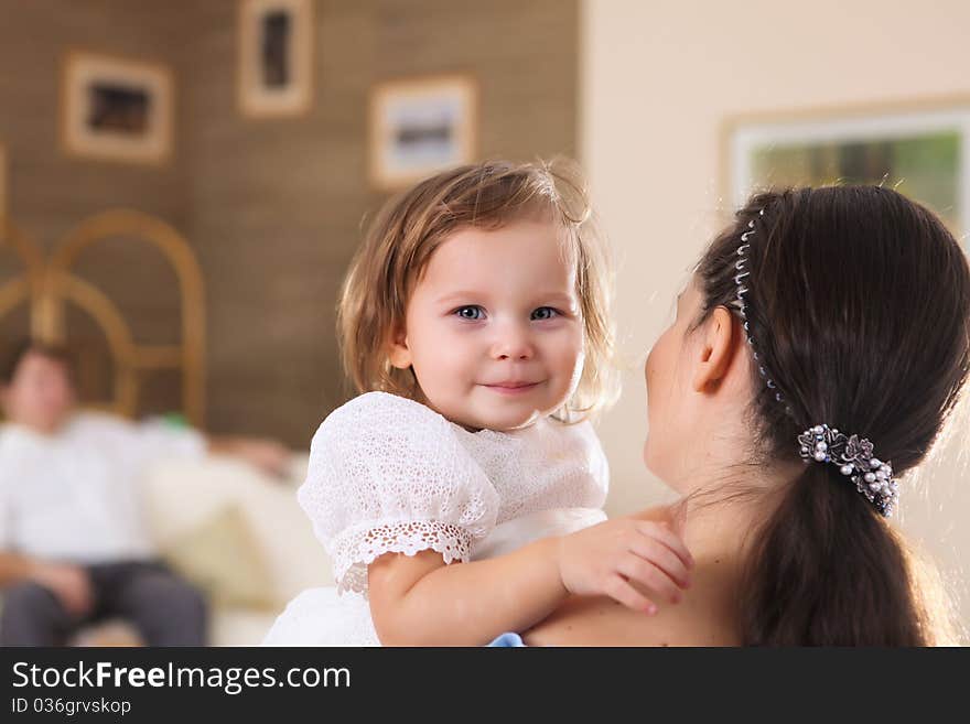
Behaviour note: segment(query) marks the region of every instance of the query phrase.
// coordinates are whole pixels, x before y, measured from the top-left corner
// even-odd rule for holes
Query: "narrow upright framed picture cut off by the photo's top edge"
[[[312,0],[239,3],[239,109],[256,118],[299,116],[313,98]]]

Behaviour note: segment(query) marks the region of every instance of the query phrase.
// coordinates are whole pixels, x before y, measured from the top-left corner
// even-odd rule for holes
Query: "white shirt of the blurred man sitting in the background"
[[[204,453],[195,431],[108,414],[77,413],[51,435],[0,425],[0,550],[86,564],[151,558],[142,474]]]

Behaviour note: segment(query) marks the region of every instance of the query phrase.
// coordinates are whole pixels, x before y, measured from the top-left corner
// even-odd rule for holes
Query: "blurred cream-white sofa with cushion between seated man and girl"
[[[149,521],[162,553],[211,601],[213,646],[259,644],[300,591],[332,583],[331,565],[295,491],[308,458],[284,480],[228,457],[148,472]]]

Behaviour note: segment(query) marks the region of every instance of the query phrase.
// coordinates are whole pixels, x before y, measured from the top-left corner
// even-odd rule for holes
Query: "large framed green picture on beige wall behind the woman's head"
[[[736,119],[724,145],[733,207],[757,188],[876,183],[970,233],[970,98]]]

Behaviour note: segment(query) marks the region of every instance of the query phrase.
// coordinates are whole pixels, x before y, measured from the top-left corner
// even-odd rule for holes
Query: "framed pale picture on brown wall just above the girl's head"
[[[470,163],[477,145],[477,85],[467,76],[395,80],[370,97],[370,179],[395,191]]]

